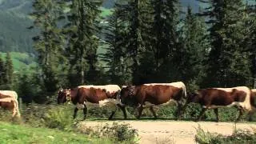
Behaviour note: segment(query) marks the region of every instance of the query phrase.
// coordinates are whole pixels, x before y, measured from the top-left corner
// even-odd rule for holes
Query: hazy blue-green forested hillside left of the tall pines
[[[0,0],[0,51],[34,52],[34,31],[26,29],[33,24],[27,15],[31,9],[31,1]]]

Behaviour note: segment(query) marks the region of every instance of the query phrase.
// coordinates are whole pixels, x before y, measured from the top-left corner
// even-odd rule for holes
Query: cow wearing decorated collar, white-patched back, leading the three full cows
[[[90,105],[90,103],[99,106],[111,106],[113,109],[109,119],[113,118],[118,106],[122,110],[124,118],[127,118],[126,109],[120,103],[120,90],[117,85],[78,86],[74,89],[60,90],[57,99],[58,104],[72,102],[76,105],[73,118],[76,118],[79,109],[83,109],[84,119],[86,119],[87,105]]]

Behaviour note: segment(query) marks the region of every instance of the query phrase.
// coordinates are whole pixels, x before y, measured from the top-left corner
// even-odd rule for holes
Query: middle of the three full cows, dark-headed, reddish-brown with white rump
[[[177,118],[181,118],[182,101],[186,100],[186,86],[183,82],[149,83],[140,86],[124,86],[120,94],[121,102],[127,106],[137,106],[138,116],[141,117],[144,108],[150,108],[154,118],[154,106],[176,103]]]

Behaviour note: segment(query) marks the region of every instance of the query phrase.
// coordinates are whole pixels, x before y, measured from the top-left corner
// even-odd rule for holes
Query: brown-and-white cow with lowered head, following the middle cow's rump
[[[185,107],[190,102],[199,103],[202,106],[201,113],[196,119],[196,122],[201,121],[202,115],[205,114],[206,110],[214,109],[214,113],[216,115],[215,122],[218,122],[219,107],[236,106],[239,110],[239,115],[235,122],[238,122],[244,110],[249,111],[250,114],[255,111],[255,105],[251,102],[251,99],[251,90],[246,86],[232,88],[207,88],[188,94]],[[183,110],[185,110],[185,108]]]

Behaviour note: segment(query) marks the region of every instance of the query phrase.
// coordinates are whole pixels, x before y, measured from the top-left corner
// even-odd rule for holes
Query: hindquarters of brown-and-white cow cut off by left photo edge
[[[16,93],[16,92],[15,92]],[[14,93],[13,93],[14,94]],[[12,110],[12,117],[15,116],[20,118],[20,113],[18,110],[18,101],[14,98],[14,95],[7,95],[7,93],[0,93],[0,106],[6,110]]]

